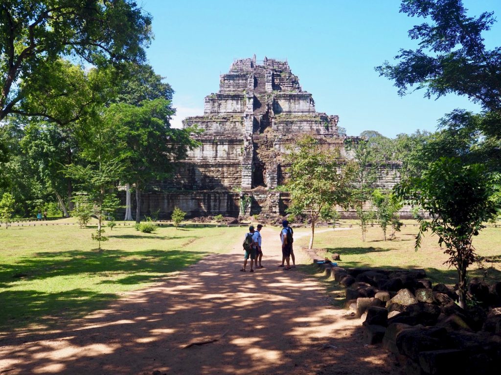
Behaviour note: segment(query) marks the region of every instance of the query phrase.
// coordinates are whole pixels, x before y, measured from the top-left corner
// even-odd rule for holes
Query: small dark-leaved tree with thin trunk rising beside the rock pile
[[[457,157],[442,157],[432,162],[421,176],[411,177],[395,186],[396,194],[429,213],[418,216],[419,233],[431,230],[438,244],[445,245],[447,263],[456,268],[459,305],[466,308],[467,268],[475,260],[473,237],[501,210],[499,175],[488,173],[482,164],[464,165]]]

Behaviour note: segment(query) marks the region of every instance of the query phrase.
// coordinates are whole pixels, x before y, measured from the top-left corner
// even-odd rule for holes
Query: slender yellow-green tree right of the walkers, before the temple
[[[308,213],[311,220],[309,248],[313,247],[315,224],[325,207],[350,206],[354,166],[342,162],[339,152],[322,147],[318,139],[305,136],[286,156],[290,163],[287,188],[291,192],[291,213]]]

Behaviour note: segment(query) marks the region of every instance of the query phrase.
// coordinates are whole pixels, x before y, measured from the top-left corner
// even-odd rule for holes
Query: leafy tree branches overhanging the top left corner
[[[30,93],[17,82],[51,82],[61,56],[142,61],[151,38],[151,17],[132,0],[5,0],[0,24],[0,121]]]

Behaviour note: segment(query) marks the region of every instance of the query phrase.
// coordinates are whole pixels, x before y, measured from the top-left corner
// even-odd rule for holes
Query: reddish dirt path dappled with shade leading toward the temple
[[[127,293],[107,310],[60,330],[4,337],[0,373],[398,374],[384,350],[363,344],[360,320],[301,272],[299,251],[298,268],[278,268],[278,230],[262,235],[266,268],[238,271],[242,233],[229,254]]]

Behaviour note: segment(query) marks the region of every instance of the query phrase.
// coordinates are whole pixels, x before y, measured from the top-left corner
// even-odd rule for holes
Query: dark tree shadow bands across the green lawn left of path
[[[25,325],[45,315],[59,315],[68,312],[81,316],[94,308],[101,308],[102,301],[116,297],[115,293],[90,292],[76,288],[60,293],[40,290],[20,290],[18,285],[25,281],[45,283],[47,279],[59,277],[105,276],[111,279],[102,284],[138,285],[153,282],[161,275],[177,271],[195,263],[206,252],[184,250],[142,251],[79,251],[38,252],[22,258],[16,264],[3,265],[0,270],[0,287],[7,290],[0,293],[3,307],[0,309],[0,327]],[[74,282],[69,280],[68,282]],[[43,285],[40,289],[44,289]],[[64,289],[64,287],[63,287]],[[96,304],[96,302],[99,302]],[[19,311],[28,311],[28,317],[18,319]],[[52,320],[51,317],[48,319]]]

